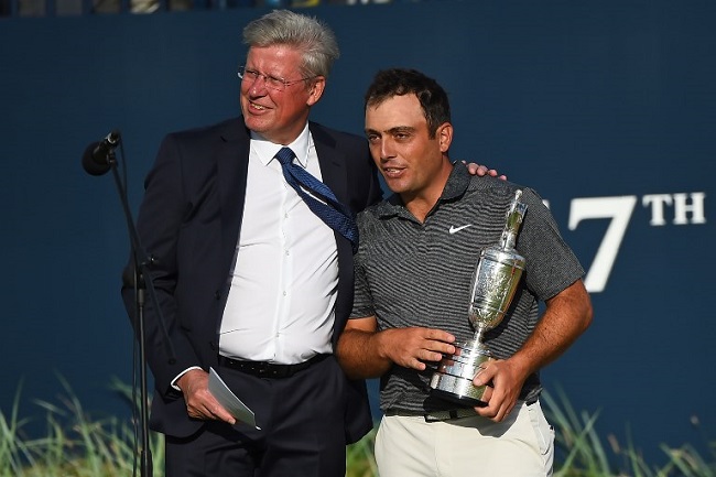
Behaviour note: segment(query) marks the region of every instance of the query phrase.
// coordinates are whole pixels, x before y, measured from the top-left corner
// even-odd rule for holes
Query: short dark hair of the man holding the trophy
[[[415,95],[420,101],[431,138],[435,137],[441,124],[452,122],[447,93],[435,79],[416,69],[391,68],[378,72],[366,91],[365,107],[375,107],[393,96],[410,94]]]

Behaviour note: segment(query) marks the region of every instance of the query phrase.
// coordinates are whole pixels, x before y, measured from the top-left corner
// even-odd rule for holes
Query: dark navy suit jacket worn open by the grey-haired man
[[[367,141],[313,122],[310,129],[323,181],[338,199],[356,213],[376,203],[381,191]],[[183,397],[170,383],[192,366],[217,368],[218,330],[241,229],[249,139],[242,118],[171,133],[144,184],[137,229],[143,249],[155,259],[150,274],[163,315],[162,324],[148,295],[147,358],[155,384],[150,424],[164,434],[188,436],[203,424],[187,416]],[[339,280],[334,348],[350,313],[354,292],[350,242],[335,235]],[[134,323],[132,264],[130,259],[122,296]],[[172,355],[174,359],[170,359]],[[347,402],[346,437],[355,442],[372,422],[365,382],[351,381],[347,389],[349,395],[336,399]]]

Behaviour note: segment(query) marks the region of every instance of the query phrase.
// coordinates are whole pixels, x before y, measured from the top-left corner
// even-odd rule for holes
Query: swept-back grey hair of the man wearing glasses
[[[306,76],[327,77],[333,62],[340,56],[336,35],[327,24],[290,10],[274,10],[250,22],[243,29],[243,44],[296,47],[302,52],[302,73]]]

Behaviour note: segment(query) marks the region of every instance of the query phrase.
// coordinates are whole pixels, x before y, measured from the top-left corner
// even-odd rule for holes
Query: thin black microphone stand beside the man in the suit
[[[160,326],[162,328],[164,338],[166,339],[167,350],[170,354],[169,360],[173,364],[176,359],[174,357],[174,348],[169,338],[169,333],[166,330],[163,316],[161,315],[161,308],[159,307],[159,301],[156,300],[156,293],[154,291],[154,285],[149,274],[149,267],[156,262],[156,260],[149,256],[142,248],[139,235],[137,234],[137,228],[132,219],[132,214],[129,207],[129,202],[127,199],[127,189],[122,184],[122,181],[117,171],[117,159],[115,156],[113,149],[110,149],[107,153],[107,163],[109,169],[112,171],[112,176],[115,177],[115,184],[117,185],[117,191],[119,193],[120,202],[122,209],[124,212],[124,217],[127,219],[127,228],[129,230],[132,257],[134,264],[134,325],[137,339],[139,342],[139,361],[140,361],[140,427],[141,427],[141,443],[139,445],[139,456],[140,456],[140,475],[142,477],[152,477],[153,467],[152,467],[152,452],[149,445],[149,392],[147,389],[147,347],[145,347],[145,335],[144,335],[144,299],[145,291],[149,290],[150,297],[152,299],[152,304],[154,310],[159,315]],[[135,405],[135,403],[133,403]]]

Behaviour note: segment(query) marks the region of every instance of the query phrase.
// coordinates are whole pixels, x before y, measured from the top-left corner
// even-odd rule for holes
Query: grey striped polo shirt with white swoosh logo
[[[351,317],[377,316],[379,329],[425,326],[469,339],[469,284],[482,248],[499,242],[506,212],[519,187],[493,177],[470,176],[456,163],[443,195],[421,224],[393,195],[358,215],[360,247],[355,257],[356,293]],[[528,210],[517,240],[527,265],[505,319],[486,335],[498,358],[514,354],[534,329],[539,302],[551,299],[584,274],[550,210],[522,188]],[[393,366],[381,378],[383,411],[454,408],[430,399],[434,366],[423,371]],[[521,399],[540,393],[531,376]]]

